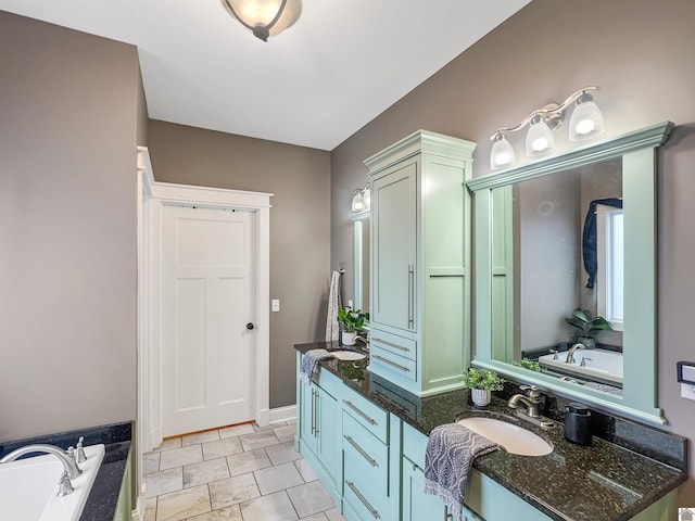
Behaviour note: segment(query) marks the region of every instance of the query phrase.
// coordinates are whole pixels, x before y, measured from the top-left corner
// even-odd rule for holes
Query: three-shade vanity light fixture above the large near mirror
[[[574,104],[569,122],[570,141],[592,139],[604,132],[604,118],[590,91],[599,90],[590,86],[579,89],[563,103],[549,103],[526,116],[516,127],[500,128],[490,138],[493,141],[490,151],[490,168],[498,170],[514,166],[516,155],[507,134],[516,132],[529,125],[526,136],[526,155],[533,157],[552,152],[555,149],[555,130],[565,119],[565,112]]]

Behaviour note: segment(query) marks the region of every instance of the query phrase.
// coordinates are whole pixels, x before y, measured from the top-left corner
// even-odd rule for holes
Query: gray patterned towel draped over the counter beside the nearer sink
[[[425,452],[425,492],[441,498],[454,519],[460,519],[473,459],[497,448],[496,443],[458,423],[435,427]]]

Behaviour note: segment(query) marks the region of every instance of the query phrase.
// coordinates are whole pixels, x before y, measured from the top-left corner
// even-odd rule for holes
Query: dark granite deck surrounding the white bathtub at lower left
[[[46,436],[0,443],[0,458],[12,450],[36,443],[48,443],[67,449],[75,446],[79,436],[85,436],[85,446],[104,444],[104,459],[91,487],[87,503],[79,518],[81,521],[113,521],[118,503],[130,441],[132,422],[114,423],[76,431],[61,432]]]

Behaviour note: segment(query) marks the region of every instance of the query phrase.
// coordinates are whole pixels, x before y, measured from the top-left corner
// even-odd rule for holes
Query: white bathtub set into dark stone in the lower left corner
[[[87,503],[101,461],[103,445],[85,447],[83,473],[71,480],[75,491],[58,497],[63,463],[42,455],[0,465],[0,519],[22,521],[77,521]]]

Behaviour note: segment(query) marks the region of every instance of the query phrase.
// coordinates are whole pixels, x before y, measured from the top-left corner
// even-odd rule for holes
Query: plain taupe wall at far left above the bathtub
[[[0,440],[136,417],[136,49],[0,12]]]

